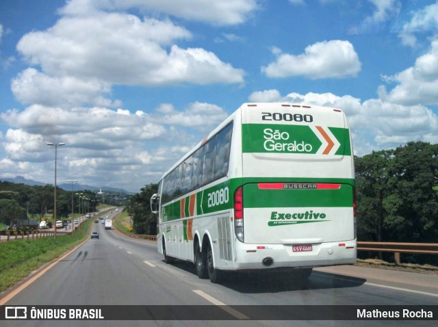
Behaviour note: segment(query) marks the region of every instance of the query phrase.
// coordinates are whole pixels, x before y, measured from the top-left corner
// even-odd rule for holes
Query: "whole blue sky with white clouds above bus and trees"
[[[0,1],[0,177],[123,187],[245,102],[344,109],[357,155],[438,142],[438,2]]]

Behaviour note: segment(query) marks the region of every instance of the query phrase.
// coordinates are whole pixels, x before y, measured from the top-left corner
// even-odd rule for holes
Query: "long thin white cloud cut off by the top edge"
[[[257,10],[257,0],[73,0],[60,10],[67,15],[88,15],[96,10],[129,10],[161,12],[188,21],[214,25],[243,23]]]

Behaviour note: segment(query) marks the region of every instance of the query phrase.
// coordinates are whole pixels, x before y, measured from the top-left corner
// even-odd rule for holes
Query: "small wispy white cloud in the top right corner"
[[[432,31],[437,32],[438,27],[438,3],[426,5],[421,10],[413,12],[411,21],[405,23],[400,31],[400,38],[404,45],[414,47],[417,43],[415,33]]]

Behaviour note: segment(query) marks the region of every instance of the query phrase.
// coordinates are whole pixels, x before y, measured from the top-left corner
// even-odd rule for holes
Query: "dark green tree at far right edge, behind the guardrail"
[[[409,142],[394,151],[387,228],[395,241],[436,242],[438,235],[438,144]]]

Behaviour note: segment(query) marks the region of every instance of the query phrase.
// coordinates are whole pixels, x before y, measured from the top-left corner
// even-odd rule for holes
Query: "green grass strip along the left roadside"
[[[90,235],[91,222],[83,222],[73,236],[17,239],[0,243],[0,292],[85,240]]]

